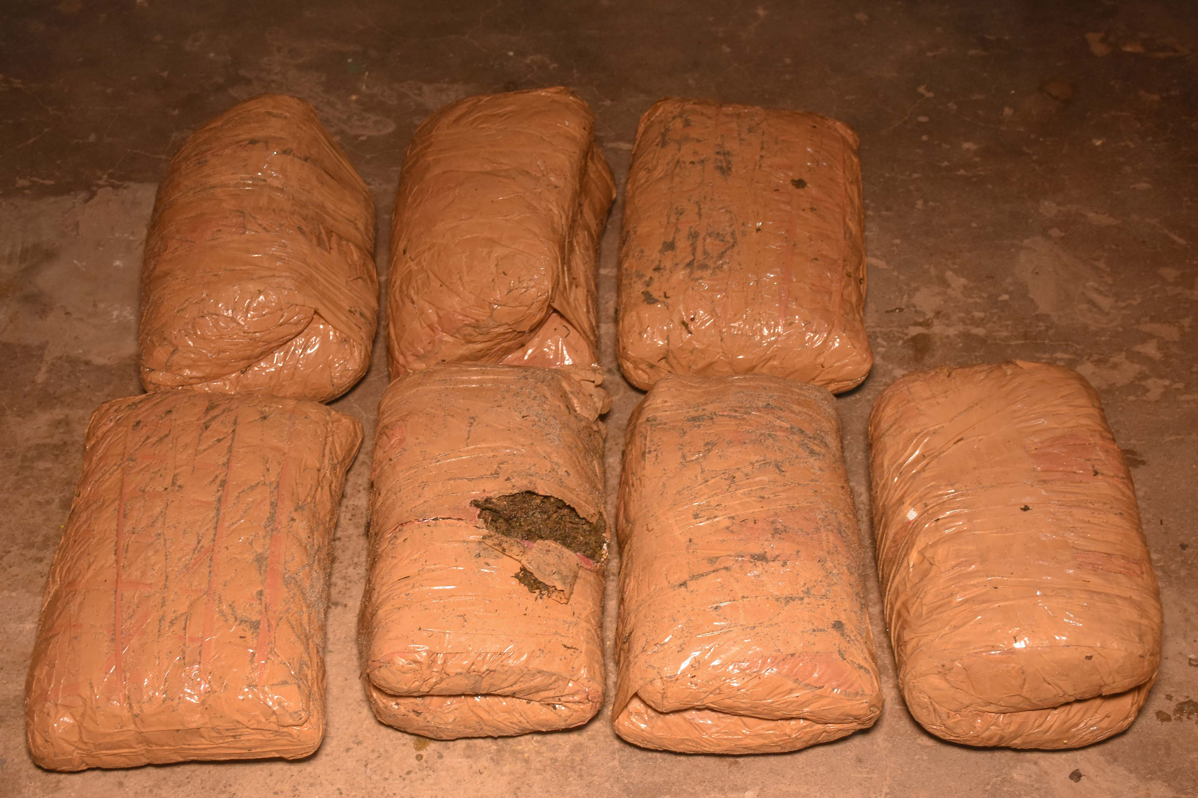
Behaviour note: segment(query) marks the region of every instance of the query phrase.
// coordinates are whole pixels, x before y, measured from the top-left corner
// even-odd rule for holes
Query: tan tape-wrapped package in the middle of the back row
[[[615,196],[594,114],[568,89],[430,116],[395,200],[392,379],[443,363],[597,366],[595,258]]]

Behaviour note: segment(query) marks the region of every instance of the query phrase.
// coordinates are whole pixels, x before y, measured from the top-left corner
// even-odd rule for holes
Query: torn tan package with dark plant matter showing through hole
[[[382,723],[455,739],[598,712],[607,396],[595,379],[452,364],[387,389],[358,622]]]

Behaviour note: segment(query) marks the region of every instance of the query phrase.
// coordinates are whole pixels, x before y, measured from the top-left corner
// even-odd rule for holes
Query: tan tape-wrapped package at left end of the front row
[[[264,395],[101,406],[34,645],[34,760],[316,750],[331,538],[361,441],[350,416]]]

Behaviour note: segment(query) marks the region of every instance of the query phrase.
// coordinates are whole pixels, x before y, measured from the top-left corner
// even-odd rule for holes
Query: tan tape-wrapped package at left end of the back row
[[[141,270],[146,390],[328,401],[370,364],[374,200],[310,105],[262,95],[196,130],[158,187]]]

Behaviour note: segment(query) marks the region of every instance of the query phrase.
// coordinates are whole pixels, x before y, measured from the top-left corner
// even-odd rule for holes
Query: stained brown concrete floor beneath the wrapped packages
[[[758,2],[761,5],[758,5]],[[174,7],[171,7],[174,5]],[[0,793],[5,796],[1198,794],[1198,6],[1108,0],[168,4],[0,8]],[[571,6],[571,11],[565,11]],[[652,8],[651,8],[652,6]],[[374,366],[335,407],[368,430],[337,534],[328,736],[303,762],[54,774],[24,744],[23,684],[91,410],[139,391],[138,267],[183,136],[264,91],[314,103],[380,219],[412,130],[479,92],[565,84],[618,179],[668,95],[807,109],[861,138],[872,376],[839,400],[867,516],[865,424],[900,374],[1024,358],[1099,389],[1133,465],[1161,580],[1160,678],[1124,735],[1077,751],[974,750],[908,717],[877,583],[887,707],[871,731],[788,755],[640,750],[609,712],[567,733],[429,742],[375,723],[357,680]],[[619,203],[603,242],[613,357]],[[387,225],[380,226],[386,275]],[[610,501],[640,398],[609,365]],[[869,541],[869,525],[861,535]],[[616,569],[609,583],[613,626]],[[1070,774],[1081,773],[1075,781]]]

